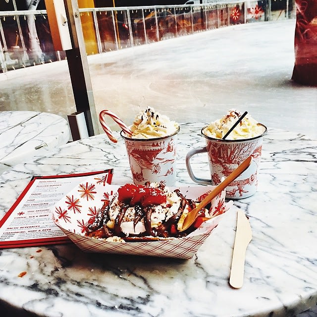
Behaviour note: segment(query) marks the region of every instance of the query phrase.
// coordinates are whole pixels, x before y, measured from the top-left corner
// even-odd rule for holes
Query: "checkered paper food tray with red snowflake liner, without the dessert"
[[[89,219],[98,213],[104,202],[110,200],[119,187],[104,184],[96,178],[79,184],[55,205],[52,212],[54,223],[85,252],[191,259],[222,216],[219,214],[181,239],[122,243],[85,236]],[[196,201],[201,201],[213,188],[214,186],[179,187],[187,198]],[[170,187],[170,190],[174,188]],[[232,206],[233,203],[225,203],[224,198],[225,191],[212,201],[210,214],[223,213]]]

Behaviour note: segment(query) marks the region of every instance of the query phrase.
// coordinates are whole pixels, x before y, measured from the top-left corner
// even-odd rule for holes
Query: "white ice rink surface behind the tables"
[[[317,88],[291,80],[294,31],[295,20],[249,23],[88,56],[96,111],[130,124],[153,106],[180,123],[206,123],[234,107],[316,138]],[[66,61],[0,74],[0,87],[0,110],[76,111]]]

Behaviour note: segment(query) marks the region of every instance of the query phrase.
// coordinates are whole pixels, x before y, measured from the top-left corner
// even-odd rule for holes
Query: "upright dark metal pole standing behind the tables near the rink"
[[[88,135],[99,134],[84,35],[77,0],[64,0],[72,49],[66,50],[77,112],[84,112]]]

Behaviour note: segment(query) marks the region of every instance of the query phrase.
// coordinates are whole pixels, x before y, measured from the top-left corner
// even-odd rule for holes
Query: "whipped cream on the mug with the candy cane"
[[[171,121],[152,107],[147,107],[135,117],[132,126],[132,138],[152,139],[169,136],[179,128],[178,123]]]

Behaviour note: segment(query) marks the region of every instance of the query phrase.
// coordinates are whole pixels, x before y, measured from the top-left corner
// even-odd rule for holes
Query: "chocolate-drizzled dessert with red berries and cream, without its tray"
[[[181,238],[224,211],[223,202],[214,209],[209,205],[200,211],[190,228],[179,232],[185,217],[195,207],[196,202],[187,199],[179,189],[171,191],[159,183],[125,184],[89,219],[86,234],[115,242]]]

